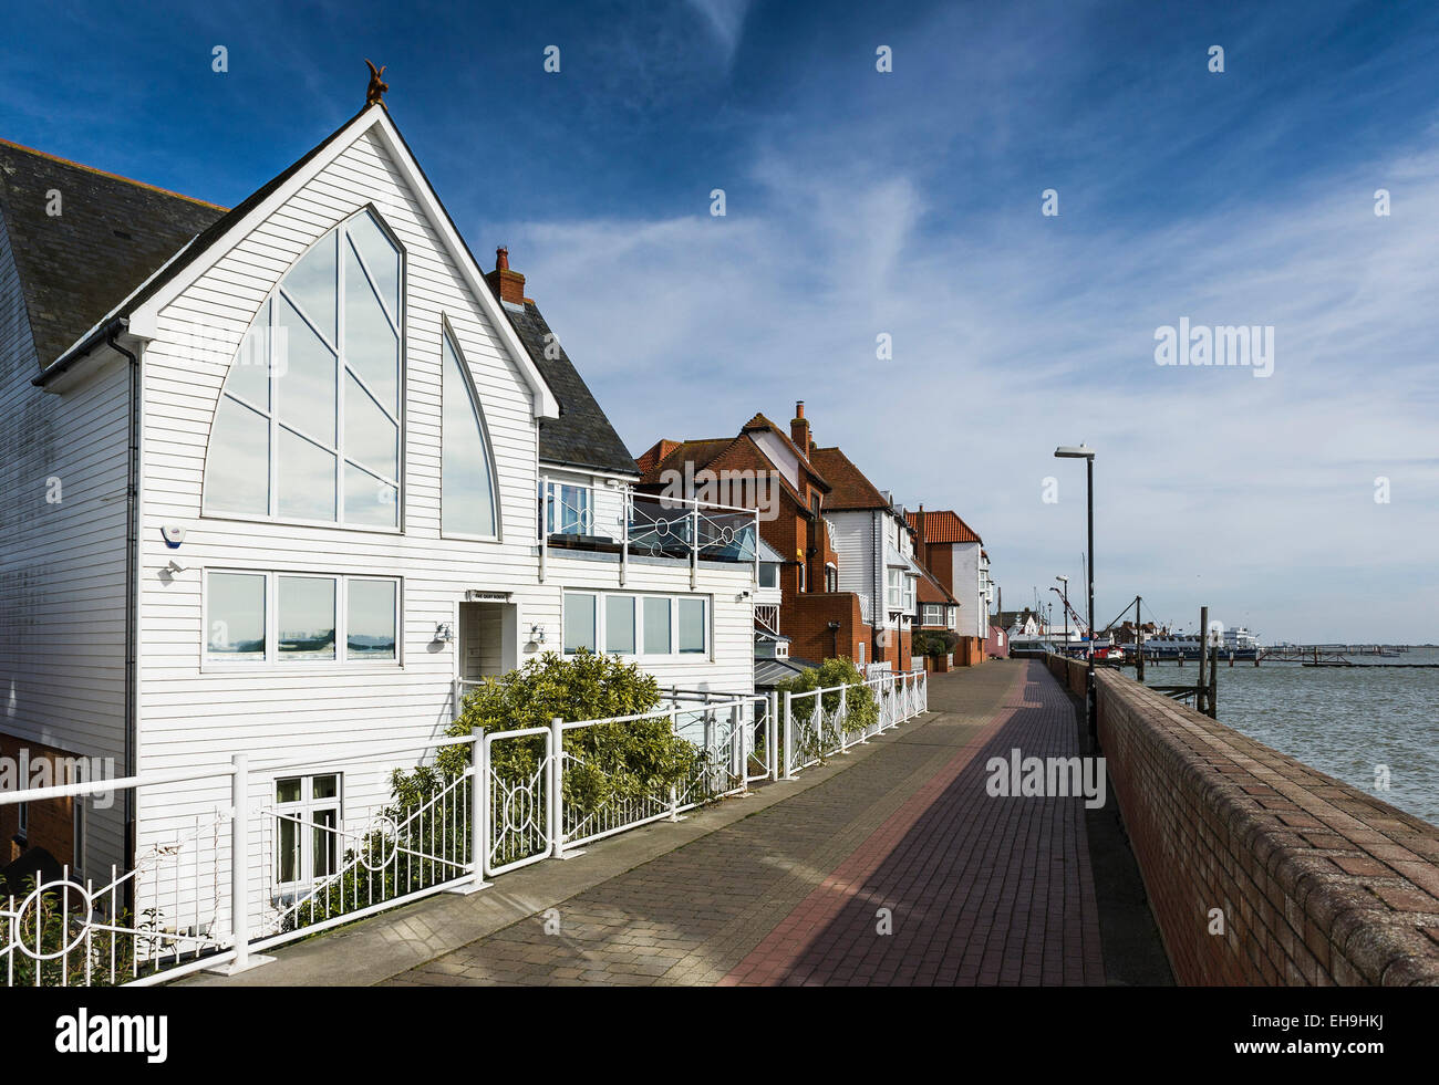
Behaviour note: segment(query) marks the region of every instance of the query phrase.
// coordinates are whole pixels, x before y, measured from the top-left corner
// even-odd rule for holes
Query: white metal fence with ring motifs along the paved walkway
[[[197,969],[242,970],[255,954],[443,891],[560,858],[587,844],[740,795],[758,780],[793,779],[927,710],[922,673],[803,694],[668,690],[668,707],[637,716],[554,720],[548,727],[363,749],[353,765],[427,763],[403,798],[357,809],[322,792],[324,766],[245,754],[204,770],[0,793],[0,805],[137,793],[176,785],[227,792],[148,842],[134,869],[81,878],[65,868],[0,900],[4,986],[157,983]],[[717,700],[720,698],[720,700]],[[678,736],[672,783],[629,779],[607,757],[609,729]],[[446,753],[450,770],[435,769]],[[462,765],[462,767],[459,767]],[[314,793],[283,802],[276,782]],[[476,786],[478,780],[478,786]]]

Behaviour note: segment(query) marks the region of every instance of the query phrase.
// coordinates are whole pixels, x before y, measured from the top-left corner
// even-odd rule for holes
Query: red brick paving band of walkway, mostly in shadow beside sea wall
[[[721,984],[1104,983],[1082,800],[984,788],[986,762],[1014,747],[1079,753],[1069,698],[1030,668],[994,721]],[[879,908],[892,934],[878,934]]]

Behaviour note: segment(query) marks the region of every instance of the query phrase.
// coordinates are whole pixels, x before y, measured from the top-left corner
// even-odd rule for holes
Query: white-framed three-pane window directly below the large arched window
[[[210,655],[210,573],[237,573],[265,578],[265,658],[226,660]],[[335,582],[335,657],[332,660],[292,660],[279,657],[279,578],[299,576]],[[394,658],[348,658],[350,583],[378,581],[394,585]],[[200,599],[200,670],[201,671],[263,671],[266,674],[317,674],[337,668],[347,671],[396,671],[404,667],[404,578],[371,576],[368,573],[311,572],[307,569],[232,569],[207,566],[203,571]],[[327,773],[321,773],[327,775]]]

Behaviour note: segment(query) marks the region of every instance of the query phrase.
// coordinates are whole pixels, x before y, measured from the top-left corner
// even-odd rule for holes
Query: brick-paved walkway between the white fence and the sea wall
[[[1066,694],[1016,660],[937,675],[930,707],[819,786],[391,983],[1102,983],[1082,799],[984,790],[1013,747],[1078,754]]]

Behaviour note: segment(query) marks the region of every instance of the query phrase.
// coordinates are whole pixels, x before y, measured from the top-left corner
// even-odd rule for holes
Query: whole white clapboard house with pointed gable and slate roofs
[[[753,690],[753,513],[632,494],[524,277],[482,272],[383,105],[232,210],[13,144],[0,204],[4,756],[282,754],[312,767],[271,798],[331,823],[414,763],[357,752],[544,651]],[[104,881],[224,802],[6,806],[0,834]]]

